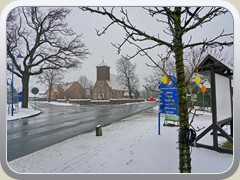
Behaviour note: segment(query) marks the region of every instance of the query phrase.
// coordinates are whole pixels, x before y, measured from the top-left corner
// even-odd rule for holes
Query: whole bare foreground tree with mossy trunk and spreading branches
[[[143,9],[146,10],[151,17],[156,19],[156,23],[161,23],[161,26],[166,27],[162,34],[159,32],[156,36],[155,34],[151,34],[151,32],[146,32],[146,30],[138,28],[139,26],[131,21],[128,10],[122,7],[80,7],[80,9],[107,16],[111,20],[111,22],[103,28],[103,31],[97,30],[98,35],[105,34],[113,25],[118,25],[125,31],[126,37],[123,41],[113,45],[117,48],[118,53],[121,52],[122,47],[127,43],[135,46],[137,50],[136,53],[126,55],[127,59],[134,58],[137,55],[145,55],[156,67],[164,71],[164,69],[154,61],[149,51],[164,46],[167,48],[166,57],[173,54],[179,95],[179,170],[180,173],[190,173],[191,158],[189,146],[191,143],[186,139],[189,133],[190,124],[186,97],[187,79],[185,76],[183,52],[185,49],[195,46],[203,46],[204,48],[219,47],[220,49],[224,48],[224,46],[231,46],[233,44],[232,39],[226,40],[226,37],[231,37],[233,33],[225,33],[223,30],[212,38],[205,38],[198,42],[192,42],[191,36],[189,40],[184,42],[183,37],[191,33],[192,30],[203,27],[206,23],[211,23],[217,16],[228,13],[228,10],[221,7],[144,7]],[[120,9],[120,13],[116,12],[116,9]],[[168,36],[170,40],[164,39],[166,36]],[[149,43],[144,45],[142,42]]]

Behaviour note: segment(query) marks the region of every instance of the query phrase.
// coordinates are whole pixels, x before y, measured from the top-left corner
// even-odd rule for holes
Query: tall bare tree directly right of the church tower
[[[135,73],[136,66],[136,63],[132,64],[124,58],[120,58],[116,62],[118,84],[128,90],[129,98],[133,98],[134,90],[137,90],[139,87],[139,78]]]

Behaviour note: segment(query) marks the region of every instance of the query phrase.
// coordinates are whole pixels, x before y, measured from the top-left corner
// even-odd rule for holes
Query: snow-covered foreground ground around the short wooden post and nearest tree
[[[9,162],[18,173],[178,173],[178,127],[162,126],[157,107]],[[197,116],[195,127],[208,127],[211,114]],[[211,144],[212,136],[203,138]],[[219,139],[223,141],[223,139]],[[223,173],[233,156],[192,147],[192,173]]]

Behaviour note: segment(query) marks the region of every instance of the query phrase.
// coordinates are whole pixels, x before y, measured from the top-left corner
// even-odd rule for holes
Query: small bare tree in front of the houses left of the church
[[[60,83],[64,79],[64,71],[62,69],[48,69],[43,71],[38,77],[37,83],[44,84],[48,88],[48,101],[52,99],[52,91],[55,84]]]

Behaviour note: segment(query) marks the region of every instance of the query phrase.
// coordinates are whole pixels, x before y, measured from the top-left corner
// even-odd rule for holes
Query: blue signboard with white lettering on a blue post
[[[160,135],[160,113],[178,115],[179,100],[177,90],[177,78],[172,76],[172,81],[167,84],[159,84],[159,112],[158,134]]]

